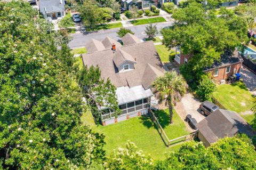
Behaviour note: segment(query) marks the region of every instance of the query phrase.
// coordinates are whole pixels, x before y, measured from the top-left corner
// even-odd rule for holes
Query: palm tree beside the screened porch
[[[185,79],[175,71],[165,72],[163,76],[156,78],[152,85],[159,102],[165,101],[165,104],[169,105],[170,124],[172,124],[173,106],[186,93]]]

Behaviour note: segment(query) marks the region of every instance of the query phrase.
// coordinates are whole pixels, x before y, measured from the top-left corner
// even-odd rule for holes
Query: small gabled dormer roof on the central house
[[[132,57],[132,55],[130,55],[129,53],[123,51],[122,49],[119,49],[115,53],[113,61],[116,64],[116,67],[119,67],[125,61],[130,61],[130,62],[136,63],[134,58]]]

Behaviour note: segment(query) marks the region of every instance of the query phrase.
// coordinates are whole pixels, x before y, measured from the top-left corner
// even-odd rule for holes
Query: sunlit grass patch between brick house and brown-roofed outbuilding
[[[214,97],[228,110],[240,113],[252,108],[252,94],[247,90],[243,82],[218,85],[217,89],[217,92],[213,94]]]

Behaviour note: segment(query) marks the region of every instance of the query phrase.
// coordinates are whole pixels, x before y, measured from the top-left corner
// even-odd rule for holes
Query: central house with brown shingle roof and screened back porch
[[[117,118],[108,108],[101,107],[102,125],[113,124],[148,113],[157,108],[151,83],[163,75],[163,66],[152,41],[141,42],[136,36],[126,34],[124,45],[106,37],[103,41],[92,39],[87,43],[87,53],[82,54],[85,66],[99,66],[101,77],[109,78],[116,86],[119,109]]]

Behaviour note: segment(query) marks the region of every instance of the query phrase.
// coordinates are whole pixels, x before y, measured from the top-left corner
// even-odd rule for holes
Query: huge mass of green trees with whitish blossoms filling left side
[[[88,169],[102,157],[102,137],[81,124],[68,39],[43,29],[27,2],[0,2],[0,9],[1,167]]]

